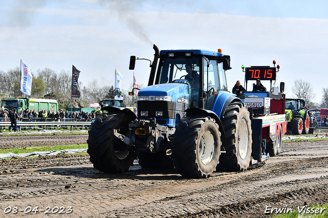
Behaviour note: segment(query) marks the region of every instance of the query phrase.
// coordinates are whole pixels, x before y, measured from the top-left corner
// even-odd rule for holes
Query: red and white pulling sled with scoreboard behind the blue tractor
[[[273,61],[274,66],[251,66],[245,68],[242,66],[242,71],[245,73],[246,89],[248,89],[249,81],[270,81],[270,89],[268,92],[258,92],[254,89],[256,85],[253,83],[252,91],[243,91],[240,96],[242,102],[248,107],[253,118],[252,123],[261,123],[252,125],[253,140],[262,144],[261,149],[266,155],[276,156],[281,152],[282,137],[287,131],[287,121],[285,119],[285,101],[284,82],[278,86],[275,84],[277,72],[280,66],[275,67],[276,61]],[[280,90],[279,90],[280,89]],[[261,126],[261,127],[259,127]],[[254,157],[255,154],[252,154]],[[265,159],[265,154],[260,155],[259,159]]]

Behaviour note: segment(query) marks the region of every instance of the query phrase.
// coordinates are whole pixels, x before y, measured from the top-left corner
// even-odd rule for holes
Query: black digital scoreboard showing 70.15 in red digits
[[[246,80],[276,80],[276,68],[251,67],[246,69]]]

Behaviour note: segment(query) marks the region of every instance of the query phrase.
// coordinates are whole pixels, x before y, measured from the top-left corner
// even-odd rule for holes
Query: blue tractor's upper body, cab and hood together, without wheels
[[[154,50],[148,86],[138,92],[138,119],[155,118],[159,124],[175,126],[190,108],[210,110],[220,117],[219,101],[232,96],[225,74],[231,69],[230,56],[220,49]],[[131,56],[130,70],[135,60]]]

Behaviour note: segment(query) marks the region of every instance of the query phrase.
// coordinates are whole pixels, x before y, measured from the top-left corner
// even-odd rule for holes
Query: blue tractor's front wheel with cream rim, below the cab
[[[176,170],[189,178],[211,176],[219,161],[220,147],[220,132],[214,119],[200,116],[181,119],[173,136]]]

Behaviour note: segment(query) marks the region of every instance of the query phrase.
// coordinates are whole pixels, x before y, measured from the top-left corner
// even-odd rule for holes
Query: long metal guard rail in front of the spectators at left
[[[80,129],[80,128],[86,128],[89,129],[91,127],[92,121],[88,121],[86,119],[65,119],[65,121],[54,121],[51,118],[23,118],[22,121],[17,121],[17,129],[16,130],[22,130],[22,129],[51,129],[51,128],[70,128],[71,130],[73,128]],[[0,127],[5,128],[6,126],[11,126],[10,118],[2,118],[0,119]]]

